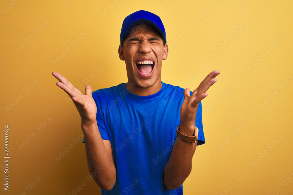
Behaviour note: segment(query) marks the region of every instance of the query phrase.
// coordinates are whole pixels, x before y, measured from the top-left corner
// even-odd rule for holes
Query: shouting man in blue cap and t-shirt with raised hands
[[[193,92],[162,82],[166,32],[159,16],[147,11],[125,18],[120,41],[127,83],[94,92],[86,85],[83,95],[52,73],[81,116],[88,169],[99,168],[94,180],[102,194],[183,194],[196,146],[205,143],[200,101],[219,71]]]

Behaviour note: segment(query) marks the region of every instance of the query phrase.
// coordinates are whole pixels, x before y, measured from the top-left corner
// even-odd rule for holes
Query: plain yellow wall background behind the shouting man
[[[0,146],[3,152],[0,156],[5,156],[4,125],[9,125],[11,157],[9,192],[3,189],[4,160],[0,161],[1,194],[23,191],[72,194],[82,182],[86,186],[79,195],[100,194],[98,185],[86,180],[89,171],[85,145],[81,140],[74,142],[82,134],[79,113],[72,101],[68,101],[68,95],[56,86],[57,79],[51,73],[59,72],[76,87],[81,85],[82,92],[83,80],[93,70],[99,71],[88,82],[93,90],[127,82],[125,62],[117,54],[119,34],[123,19],[141,9],[159,15],[166,29],[170,51],[168,59],[163,61],[163,82],[183,87],[181,82],[185,81],[184,88],[193,90],[212,70],[221,72],[202,101],[203,111],[207,109],[203,116],[206,144],[197,147],[192,170],[195,176],[189,176],[183,184],[184,194],[226,194],[227,191],[229,194],[272,194],[272,191],[292,194],[293,180],[287,178],[293,172],[293,82],[288,77],[293,73],[293,2],[113,2],[21,0],[16,5],[11,0],[0,2]],[[115,6],[110,8],[109,4]],[[100,13],[107,7],[110,11],[102,17]],[[199,18],[201,14],[204,17]],[[42,23],[42,30],[36,34],[34,29]],[[80,32],[86,35],[72,47],[70,42]],[[233,39],[230,33],[236,34]],[[30,35],[33,39],[16,51]],[[279,42],[274,45],[275,38]],[[212,58],[214,49],[225,41],[228,44]],[[265,49],[270,44],[274,48],[267,53]],[[67,47],[70,51],[54,65],[53,60]],[[265,56],[259,63],[249,68],[251,61],[262,53]],[[191,80],[190,72],[196,74]],[[33,79],[39,80],[33,83],[35,86],[31,85]],[[280,83],[287,85],[281,90]],[[232,89],[228,92],[229,86]],[[25,92],[25,87],[32,89]],[[277,95],[270,98],[274,91]],[[23,98],[6,111],[5,107],[21,94]],[[270,101],[261,106],[265,99]],[[213,105],[214,101],[217,104]],[[46,117],[52,118],[47,124]],[[241,122],[246,124],[244,128]],[[46,126],[38,132],[35,128],[42,123]],[[233,137],[230,133],[239,127],[242,130]],[[20,149],[19,144],[33,132],[36,136]],[[283,138],[276,141],[278,135]],[[230,141],[225,142],[227,139]],[[270,143],[274,147],[269,147]],[[55,157],[69,144],[74,147],[57,162]],[[221,151],[218,146],[222,147]],[[215,153],[217,148],[219,153]],[[265,150],[268,152],[261,157],[259,153]],[[260,161],[252,165],[255,158]],[[36,176],[42,179],[32,189],[28,188]],[[290,182],[284,186],[282,182],[286,179]]]

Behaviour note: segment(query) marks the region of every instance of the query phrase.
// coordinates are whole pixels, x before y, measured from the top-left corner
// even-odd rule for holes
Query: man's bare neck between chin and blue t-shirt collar
[[[127,82],[126,87],[128,91],[130,91],[132,94],[135,94],[138,96],[149,96],[160,91],[160,89],[162,88],[162,82],[161,80],[158,80],[153,86],[143,88],[138,86],[132,81],[132,82]]]

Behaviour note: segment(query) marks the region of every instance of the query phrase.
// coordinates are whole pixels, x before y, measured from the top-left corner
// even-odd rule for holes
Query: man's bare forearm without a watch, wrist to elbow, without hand
[[[81,128],[84,133],[88,170],[90,173],[98,172],[93,179],[100,188],[110,190],[116,182],[116,168],[109,158],[98,125],[81,124]]]

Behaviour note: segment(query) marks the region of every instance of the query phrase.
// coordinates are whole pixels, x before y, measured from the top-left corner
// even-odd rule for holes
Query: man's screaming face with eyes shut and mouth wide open
[[[124,42],[119,46],[119,57],[125,60],[128,82],[139,87],[161,86],[162,61],[167,59],[168,45],[150,25],[133,27]]]

